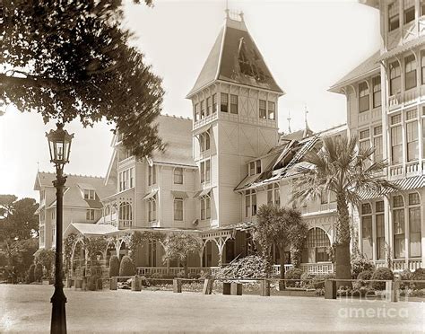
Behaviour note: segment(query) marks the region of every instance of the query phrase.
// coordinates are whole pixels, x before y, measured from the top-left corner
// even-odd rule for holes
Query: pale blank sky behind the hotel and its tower
[[[224,20],[225,0],[160,1],[148,8],[129,4],[126,25],[132,41],[163,79],[163,113],[192,117],[186,93],[192,88]],[[304,125],[304,107],[313,130],[346,121],[345,97],[326,90],[379,48],[377,10],[356,1],[229,0],[230,10],[243,11],[248,31],[276,82],[286,92],[279,101],[279,127]],[[38,199],[33,191],[49,163],[43,124],[36,113],[13,107],[0,117],[0,194]],[[104,176],[111,155],[112,134],[105,124],[82,128],[77,121],[70,163],[65,172]]]

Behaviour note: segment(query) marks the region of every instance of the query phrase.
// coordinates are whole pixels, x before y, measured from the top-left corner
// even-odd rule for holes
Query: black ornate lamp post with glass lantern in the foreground
[[[55,260],[55,293],[50,299],[52,303],[52,321],[50,333],[66,333],[66,315],[64,283],[62,277],[62,199],[66,177],[63,175],[65,163],[69,163],[71,141],[74,137],[64,130],[62,123],[56,124],[56,130],[46,133],[48,148],[50,150],[50,162],[56,166],[56,180],[53,185],[56,188],[56,260]]]

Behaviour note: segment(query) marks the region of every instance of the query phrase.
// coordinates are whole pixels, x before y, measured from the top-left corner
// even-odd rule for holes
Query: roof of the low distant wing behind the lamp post
[[[34,190],[39,190],[43,187],[52,187],[52,181],[55,179],[55,173],[39,171],[37,173]],[[84,189],[94,189],[96,192],[96,198],[84,199]],[[105,185],[104,178],[69,174],[66,175],[64,206],[100,208],[102,207],[102,204],[100,203],[100,198],[107,198],[115,192],[116,185],[113,183],[108,183],[108,185]],[[52,203],[47,203],[47,205],[48,207],[56,205],[56,201],[53,201]]]

